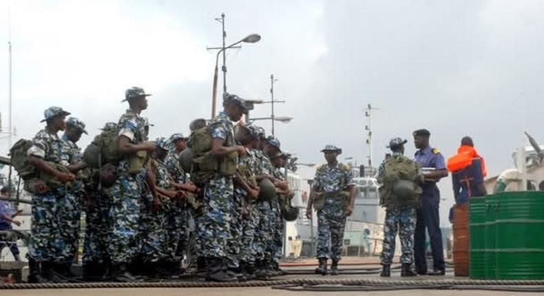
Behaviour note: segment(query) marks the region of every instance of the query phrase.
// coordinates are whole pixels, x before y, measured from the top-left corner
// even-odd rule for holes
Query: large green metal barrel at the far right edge
[[[496,278],[544,279],[544,192],[506,192],[497,202]]]

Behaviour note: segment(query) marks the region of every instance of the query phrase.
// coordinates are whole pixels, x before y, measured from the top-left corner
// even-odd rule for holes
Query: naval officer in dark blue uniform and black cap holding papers
[[[416,271],[420,275],[444,275],[444,253],[442,233],[440,231],[439,203],[440,191],[437,182],[448,176],[446,163],[440,151],[429,146],[430,131],[418,129],[414,131],[414,144],[418,151],[415,161],[423,168],[425,182],[421,188],[421,208],[417,210],[417,222],[414,235],[414,259]],[[432,250],[433,270],[427,272],[426,262],[426,229],[429,232]]]

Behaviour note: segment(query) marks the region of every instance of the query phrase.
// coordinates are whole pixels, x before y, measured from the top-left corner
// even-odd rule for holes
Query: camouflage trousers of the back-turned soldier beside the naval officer
[[[401,241],[401,263],[412,263],[414,255],[414,232],[416,211],[413,207],[390,207],[386,209],[384,246],[381,264],[391,264],[395,254],[397,231]]]

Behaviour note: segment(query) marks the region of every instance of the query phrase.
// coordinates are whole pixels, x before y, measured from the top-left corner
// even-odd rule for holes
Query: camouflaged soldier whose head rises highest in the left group
[[[127,270],[140,251],[140,208],[146,171],[143,167],[129,171],[129,158],[136,159],[138,151],[151,153],[154,142],[147,142],[147,120],[140,113],[147,109],[147,96],[140,87],[126,90],[129,109],[118,121],[117,148],[122,155],[117,166],[117,180],[112,187],[113,220],[109,253],[112,260],[112,279],[117,282],[134,282],[136,278]],[[141,153],[139,153],[141,155]]]

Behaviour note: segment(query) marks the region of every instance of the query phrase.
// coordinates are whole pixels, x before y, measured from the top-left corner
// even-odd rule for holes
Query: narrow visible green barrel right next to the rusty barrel
[[[485,198],[470,198],[469,202],[469,276],[485,279]]]

